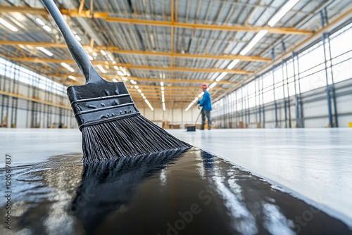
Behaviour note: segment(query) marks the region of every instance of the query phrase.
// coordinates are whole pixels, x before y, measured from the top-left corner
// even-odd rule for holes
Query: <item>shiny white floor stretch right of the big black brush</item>
[[[169,132],[264,177],[352,227],[352,128]]]

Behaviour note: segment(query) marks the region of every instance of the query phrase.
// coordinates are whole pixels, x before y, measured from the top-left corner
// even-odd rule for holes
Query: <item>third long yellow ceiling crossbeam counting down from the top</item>
[[[30,62],[30,63],[73,63],[74,60],[63,60],[63,59],[51,59],[51,58],[34,58],[34,57],[10,57],[9,59],[19,62]],[[92,61],[94,65],[116,65],[111,61]],[[182,71],[182,72],[227,72],[229,74],[253,74],[253,71],[246,70],[227,70],[218,68],[170,68],[170,67],[155,67],[146,65],[131,65],[131,64],[118,64],[125,68],[137,69],[137,70],[168,70],[168,71]]]

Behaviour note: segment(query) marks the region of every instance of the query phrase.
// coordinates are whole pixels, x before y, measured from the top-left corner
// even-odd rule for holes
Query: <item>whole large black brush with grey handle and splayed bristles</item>
[[[82,132],[84,163],[191,147],[144,118],[123,82],[103,80],[54,1],[42,2],[54,18],[86,80],[84,85],[67,89],[68,99]]]

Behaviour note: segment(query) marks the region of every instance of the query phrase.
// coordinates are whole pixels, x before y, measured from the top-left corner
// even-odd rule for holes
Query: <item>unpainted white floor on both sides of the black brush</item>
[[[352,227],[352,129],[169,130],[183,141],[244,167],[277,189]],[[12,165],[82,152],[77,129],[0,129]],[[4,157],[0,158],[4,167]]]

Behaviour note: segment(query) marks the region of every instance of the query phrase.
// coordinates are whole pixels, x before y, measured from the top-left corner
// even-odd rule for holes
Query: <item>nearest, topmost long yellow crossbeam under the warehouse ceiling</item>
[[[32,13],[39,15],[49,14],[45,8],[30,8],[30,7],[18,7],[18,6],[0,6],[0,12],[20,12],[20,13]],[[82,17],[91,18],[91,12],[81,11],[78,9],[67,10],[61,9],[61,13],[69,15],[71,17]],[[312,30],[298,30],[295,28],[286,27],[255,27],[255,26],[235,26],[235,25],[208,25],[208,24],[197,24],[197,23],[180,23],[175,21],[159,21],[159,20],[139,20],[136,18],[116,18],[109,17],[107,12],[95,12],[93,18],[101,18],[106,21],[122,23],[122,24],[133,24],[133,25],[154,25],[162,27],[182,27],[196,30],[222,30],[222,31],[244,31],[244,32],[259,32],[260,30],[268,30],[271,34],[313,34]]]

